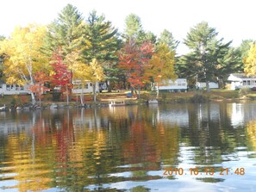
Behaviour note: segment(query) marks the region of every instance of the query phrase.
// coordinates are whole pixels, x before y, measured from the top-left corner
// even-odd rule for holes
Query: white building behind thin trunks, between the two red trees
[[[91,82],[86,82],[83,84],[84,87],[82,87],[81,81],[75,80],[73,81],[73,89],[72,93],[73,94],[81,94],[81,93],[92,93],[93,92],[93,87]],[[102,90],[107,90],[107,85],[106,83],[96,83],[96,92],[102,92]]]

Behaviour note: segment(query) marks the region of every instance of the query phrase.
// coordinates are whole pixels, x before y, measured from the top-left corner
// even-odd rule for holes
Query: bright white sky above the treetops
[[[159,35],[167,29],[181,41],[202,21],[216,28],[219,38],[233,40],[233,46],[239,46],[241,40],[256,40],[255,0],[4,0],[0,3],[0,34],[8,36],[16,25],[50,23],[67,3],[84,17],[96,9],[120,31],[125,17],[134,13],[146,31]],[[178,51],[184,50],[180,46]]]

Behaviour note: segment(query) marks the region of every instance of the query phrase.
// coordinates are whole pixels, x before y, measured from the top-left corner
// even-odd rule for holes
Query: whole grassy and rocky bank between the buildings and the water
[[[67,105],[66,102],[52,101],[51,95],[48,95],[41,101],[41,107],[39,104],[32,105],[28,102],[29,96],[26,96],[26,101],[21,102],[22,98],[25,101],[24,96],[4,96],[0,97],[0,111],[5,110],[34,110],[34,109],[47,109],[56,105],[56,108],[103,108],[109,107],[111,101],[123,102],[123,106],[147,104],[148,101],[155,100],[155,93],[145,91],[141,94],[141,98],[135,97],[128,98],[125,92],[122,93],[101,93],[97,96],[97,102],[91,101],[91,94],[86,95],[84,98],[84,105],[81,105],[78,101],[70,101]],[[87,97],[87,98],[86,98]],[[74,98],[74,96],[73,96]],[[240,96],[238,91],[230,90],[214,90],[210,92],[206,91],[189,91],[186,93],[160,93],[157,99],[158,103],[152,104],[172,104],[172,103],[204,103],[204,102],[247,102],[256,100],[256,93],[248,93],[247,95]],[[150,103],[148,103],[150,104]],[[5,106],[5,108],[3,108]],[[117,107],[111,106],[111,107]]]

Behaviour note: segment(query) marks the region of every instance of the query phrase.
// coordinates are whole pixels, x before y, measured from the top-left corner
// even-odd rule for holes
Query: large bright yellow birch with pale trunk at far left
[[[49,69],[40,52],[45,34],[45,27],[34,24],[16,28],[10,38],[1,41],[1,53],[6,55],[3,73],[8,84],[34,85],[34,73]],[[33,92],[31,98],[34,104]]]

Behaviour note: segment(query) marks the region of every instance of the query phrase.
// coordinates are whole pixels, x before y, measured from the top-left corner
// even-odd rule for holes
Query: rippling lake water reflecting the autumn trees
[[[255,191],[256,102],[0,112],[0,191]]]

